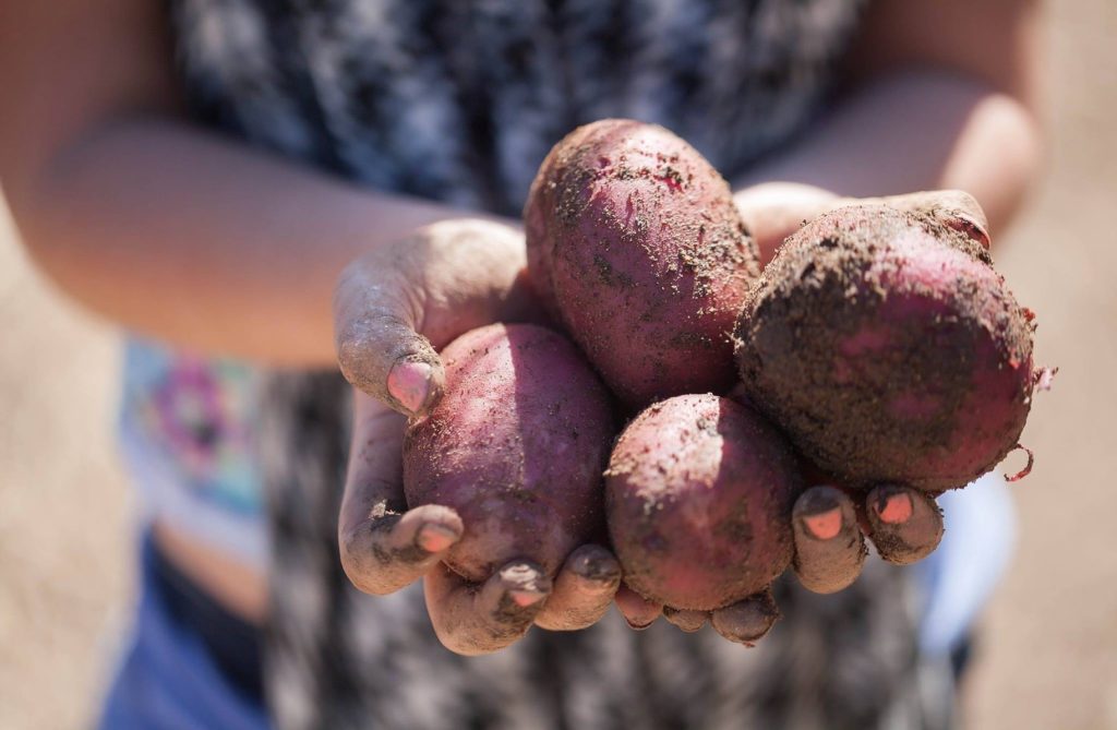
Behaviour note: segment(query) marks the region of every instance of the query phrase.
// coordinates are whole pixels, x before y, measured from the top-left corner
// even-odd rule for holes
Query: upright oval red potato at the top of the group
[[[533,285],[624,404],[728,389],[758,255],[694,148],[629,120],[581,126],[543,162],[524,220]]]

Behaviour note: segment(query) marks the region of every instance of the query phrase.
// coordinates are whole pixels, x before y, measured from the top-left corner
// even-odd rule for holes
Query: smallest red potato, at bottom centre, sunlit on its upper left
[[[605,472],[624,582],[693,610],[764,589],[791,561],[801,478],[791,447],[748,408],[713,395],[655,404],[621,434]]]

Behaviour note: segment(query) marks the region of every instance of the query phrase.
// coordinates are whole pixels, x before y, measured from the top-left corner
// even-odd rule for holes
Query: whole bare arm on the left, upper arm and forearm
[[[460,211],[376,195],[180,121],[160,3],[0,2],[0,179],[39,266],[202,351],[335,362],[359,254]]]

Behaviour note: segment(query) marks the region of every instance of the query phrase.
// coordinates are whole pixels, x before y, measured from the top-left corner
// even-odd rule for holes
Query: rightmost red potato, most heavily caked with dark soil
[[[787,239],[750,292],[736,357],[750,397],[823,471],[941,492],[1015,446],[1030,316],[980,245],[860,206]]]

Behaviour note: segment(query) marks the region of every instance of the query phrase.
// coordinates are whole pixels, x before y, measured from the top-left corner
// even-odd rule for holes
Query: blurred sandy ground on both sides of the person
[[[1050,173],[999,246],[1060,367],[1024,443],[1015,562],[967,688],[978,729],[1117,729],[1117,3],[1051,9]],[[130,497],[112,444],[117,338],[29,267],[0,209],[0,728],[88,723],[127,615]]]

